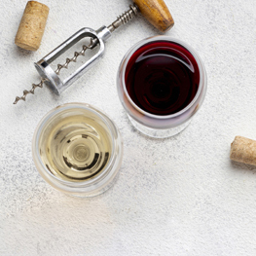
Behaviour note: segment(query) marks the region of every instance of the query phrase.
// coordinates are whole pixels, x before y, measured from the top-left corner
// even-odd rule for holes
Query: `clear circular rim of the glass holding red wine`
[[[126,75],[126,69],[127,69],[127,65],[128,65],[128,61],[131,57],[131,55],[133,55],[139,48],[141,48],[142,46],[148,44],[148,43],[152,43],[152,42],[171,42],[171,43],[177,43],[179,44],[181,47],[185,48],[191,55],[194,56],[194,58],[196,59],[196,62],[198,64],[199,70],[200,70],[200,84],[199,84],[199,88],[198,91],[196,93],[196,95],[194,96],[193,100],[183,109],[181,109],[180,111],[173,113],[173,114],[169,114],[169,115],[155,115],[155,114],[151,114],[149,112],[146,112],[145,110],[143,110],[142,108],[140,108],[139,106],[137,106],[134,101],[131,99],[131,97],[128,94],[128,90],[126,87],[126,81],[125,81],[125,75]],[[203,86],[203,77],[205,77],[205,70],[204,70],[204,66],[203,63],[201,61],[201,57],[196,53],[196,51],[190,47],[188,44],[184,43],[183,41],[170,37],[170,36],[165,36],[165,35],[158,35],[158,36],[153,36],[153,37],[149,37],[146,39],[143,39],[139,42],[137,42],[135,45],[133,45],[129,50],[127,55],[124,56],[123,61],[122,61],[122,65],[121,65],[121,79],[122,79],[122,87],[123,90],[128,98],[129,103],[137,110],[139,111],[141,114],[153,118],[153,119],[169,119],[169,118],[175,118],[177,116],[182,115],[184,112],[186,112],[188,109],[190,109],[195,102],[197,101],[197,99],[199,98],[200,94],[201,94],[201,90],[202,90],[202,86]]]

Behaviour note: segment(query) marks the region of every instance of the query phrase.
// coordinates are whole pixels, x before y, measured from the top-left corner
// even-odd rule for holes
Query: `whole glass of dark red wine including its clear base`
[[[156,138],[186,128],[201,107],[206,71],[190,46],[168,36],[135,44],[124,56],[117,88],[131,124]]]

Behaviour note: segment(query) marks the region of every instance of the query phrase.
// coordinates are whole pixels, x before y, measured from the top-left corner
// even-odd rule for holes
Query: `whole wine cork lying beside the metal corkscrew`
[[[29,51],[38,50],[48,14],[48,6],[36,1],[27,2],[16,35],[15,43],[18,47]]]

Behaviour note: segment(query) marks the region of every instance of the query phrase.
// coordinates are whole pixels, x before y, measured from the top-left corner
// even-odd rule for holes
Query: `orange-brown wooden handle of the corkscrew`
[[[164,0],[132,0],[139,8],[141,14],[149,20],[149,22],[165,32],[174,25]]]

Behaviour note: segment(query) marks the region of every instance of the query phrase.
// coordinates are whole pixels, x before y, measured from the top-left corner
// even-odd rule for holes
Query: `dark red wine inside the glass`
[[[144,111],[170,115],[195,97],[200,71],[195,57],[183,46],[167,41],[148,43],[128,60],[126,87],[131,100]]]

